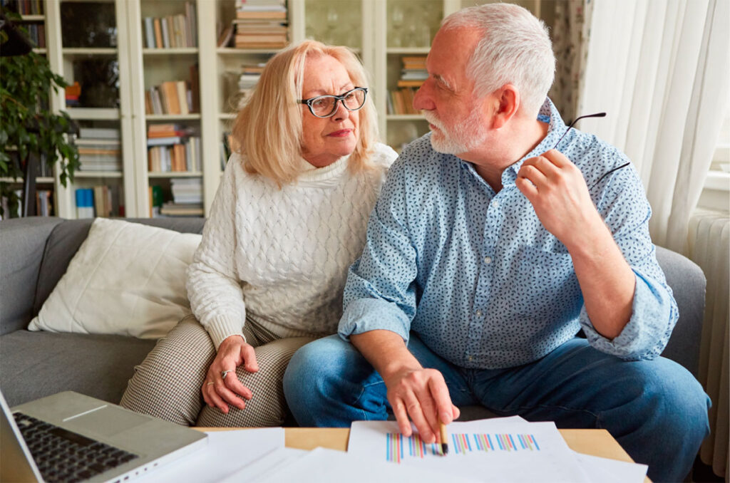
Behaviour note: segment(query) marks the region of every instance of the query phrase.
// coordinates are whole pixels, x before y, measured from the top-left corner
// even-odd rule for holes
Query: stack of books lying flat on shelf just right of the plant
[[[120,133],[117,128],[80,128],[79,171],[122,171]]]

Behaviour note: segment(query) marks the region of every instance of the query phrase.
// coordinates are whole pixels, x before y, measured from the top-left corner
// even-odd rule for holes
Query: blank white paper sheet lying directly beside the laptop
[[[191,455],[135,479],[140,483],[220,482],[245,465],[284,447],[284,428],[210,431],[208,444]]]

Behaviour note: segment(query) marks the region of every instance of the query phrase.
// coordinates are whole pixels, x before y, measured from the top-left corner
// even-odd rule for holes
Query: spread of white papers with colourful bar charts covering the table
[[[208,447],[155,471],[154,482],[641,483],[647,466],[572,451],[553,422],[520,417],[448,425],[447,455],[395,421],[358,421],[347,452],[284,447],[283,428],[215,431]],[[143,479],[144,481],[144,479]]]

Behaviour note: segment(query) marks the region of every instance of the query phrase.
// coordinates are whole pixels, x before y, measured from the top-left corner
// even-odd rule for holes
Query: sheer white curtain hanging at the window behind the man
[[[591,3],[591,1],[588,1]],[[593,0],[577,126],[626,152],[661,246],[686,253],[730,96],[730,1]]]

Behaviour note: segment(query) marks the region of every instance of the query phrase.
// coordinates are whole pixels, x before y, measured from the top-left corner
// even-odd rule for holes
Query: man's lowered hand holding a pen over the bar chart
[[[439,420],[447,425],[459,415],[458,408],[451,403],[444,376],[436,369],[404,370],[383,381],[404,436],[411,435],[412,420],[424,443],[437,442]]]

